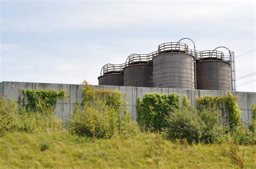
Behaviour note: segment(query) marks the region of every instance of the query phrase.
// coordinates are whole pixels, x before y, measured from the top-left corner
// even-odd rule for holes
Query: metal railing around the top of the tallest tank
[[[176,42],[164,43],[158,46],[158,54],[171,52],[188,53],[188,46],[187,44]]]

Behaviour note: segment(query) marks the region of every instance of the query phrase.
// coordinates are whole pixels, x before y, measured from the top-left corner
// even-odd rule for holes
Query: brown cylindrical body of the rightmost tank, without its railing
[[[198,61],[197,89],[230,90],[230,64],[223,60]]]

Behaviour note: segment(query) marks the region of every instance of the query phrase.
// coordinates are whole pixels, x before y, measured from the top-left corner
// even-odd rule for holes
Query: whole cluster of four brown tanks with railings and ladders
[[[131,54],[125,64],[103,66],[99,85],[235,91],[234,52],[197,51],[164,43],[149,54]]]

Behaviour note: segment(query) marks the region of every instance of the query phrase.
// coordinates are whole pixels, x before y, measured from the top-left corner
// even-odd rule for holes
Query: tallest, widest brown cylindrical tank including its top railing
[[[183,43],[158,46],[158,55],[153,57],[154,87],[194,89],[194,57],[188,52]]]

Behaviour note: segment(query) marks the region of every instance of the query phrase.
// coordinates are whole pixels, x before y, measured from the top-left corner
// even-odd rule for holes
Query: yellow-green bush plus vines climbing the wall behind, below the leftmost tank
[[[69,122],[69,130],[80,136],[111,138],[118,134],[134,136],[139,132],[131,121],[127,101],[124,117],[121,118],[122,93],[114,90],[93,89],[87,82],[83,89],[83,107],[76,108]]]

